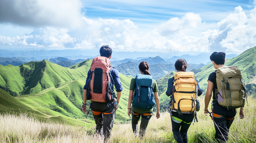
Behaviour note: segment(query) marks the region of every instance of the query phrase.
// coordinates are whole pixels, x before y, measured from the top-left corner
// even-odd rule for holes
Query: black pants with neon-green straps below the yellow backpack
[[[187,143],[187,130],[194,119],[193,113],[183,113],[179,115],[177,112],[171,112],[172,116],[172,132],[174,139],[178,143]],[[181,130],[180,130],[181,128]]]

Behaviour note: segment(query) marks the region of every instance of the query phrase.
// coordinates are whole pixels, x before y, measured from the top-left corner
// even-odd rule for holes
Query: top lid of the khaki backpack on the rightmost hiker
[[[241,77],[241,71],[237,66],[224,66],[220,67],[216,74],[220,74],[223,79],[229,78],[229,77]]]

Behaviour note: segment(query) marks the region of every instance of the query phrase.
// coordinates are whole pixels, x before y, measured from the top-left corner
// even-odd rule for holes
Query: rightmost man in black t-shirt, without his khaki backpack
[[[224,67],[225,63],[225,53],[224,52],[213,52],[210,56],[210,60],[215,69],[219,70],[219,68]],[[217,71],[216,70],[216,71]],[[218,125],[215,127],[215,138],[219,142],[227,142],[228,141],[228,132],[229,128],[234,121],[236,116],[236,109],[229,109],[219,105],[218,100],[215,96],[215,91],[218,91],[217,82],[216,82],[216,71],[212,72],[208,77],[208,86],[204,98],[205,107],[204,114],[208,115],[208,105],[212,97],[213,92],[213,121]],[[240,71],[240,70],[239,70]],[[223,79],[221,79],[223,80]],[[238,81],[240,83],[241,80]],[[240,85],[242,87],[242,85]],[[225,99],[224,99],[225,101]],[[229,101],[228,101],[229,103]],[[240,108],[240,119],[245,117],[244,107]]]

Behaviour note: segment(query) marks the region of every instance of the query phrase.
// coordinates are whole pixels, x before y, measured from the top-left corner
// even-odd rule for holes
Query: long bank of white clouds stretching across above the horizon
[[[170,54],[175,52],[174,47],[180,54],[213,51],[240,54],[256,45],[256,8],[246,15],[242,7],[236,7],[233,13],[217,24],[202,22],[199,14],[188,12],[181,18],[171,18],[148,31],[129,19],[81,19],[81,27],[76,29],[54,26],[34,28],[32,33],[23,37],[0,36],[0,43],[42,47],[78,38],[78,42],[70,42],[68,46],[62,44],[59,49],[93,49],[108,44],[114,51],[154,52],[169,49]],[[217,28],[213,29],[212,26]]]

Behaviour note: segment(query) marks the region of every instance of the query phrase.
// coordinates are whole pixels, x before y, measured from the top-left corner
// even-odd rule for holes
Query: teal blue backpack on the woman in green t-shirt
[[[156,101],[153,92],[153,79],[150,75],[136,75],[136,86],[133,95],[133,105],[137,109],[150,110]]]

